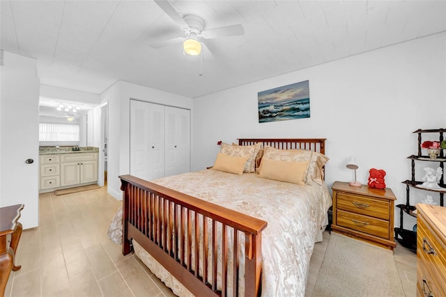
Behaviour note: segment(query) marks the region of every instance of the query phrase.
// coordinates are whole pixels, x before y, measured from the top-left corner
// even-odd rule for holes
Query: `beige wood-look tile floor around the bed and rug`
[[[11,273],[5,296],[174,296],[137,257],[124,257],[107,238],[121,202],[105,187],[39,199],[40,225],[22,233],[15,262],[22,268]],[[329,238],[324,232],[314,248],[306,296],[312,296]],[[406,296],[416,296],[415,253],[398,246],[394,260]]]

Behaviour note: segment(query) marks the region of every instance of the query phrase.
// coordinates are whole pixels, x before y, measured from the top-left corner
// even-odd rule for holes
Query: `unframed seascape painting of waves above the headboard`
[[[257,95],[259,122],[309,118],[308,81],[264,90]]]

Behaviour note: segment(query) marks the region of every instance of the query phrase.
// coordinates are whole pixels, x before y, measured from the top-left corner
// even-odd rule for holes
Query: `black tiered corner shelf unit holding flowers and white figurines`
[[[401,243],[401,246],[404,246],[405,248],[408,248],[409,250],[413,250],[414,252],[417,251],[417,232],[413,230],[406,230],[403,228],[403,218],[404,214],[408,214],[413,217],[417,217],[417,214],[413,211],[415,211],[415,206],[410,204],[410,188],[417,188],[419,190],[423,191],[431,191],[436,192],[439,194],[439,200],[440,200],[440,206],[444,206],[444,196],[446,193],[446,185],[444,181],[445,177],[445,168],[444,163],[446,162],[446,158],[443,154],[443,150],[440,150],[440,156],[438,156],[437,159],[431,159],[429,156],[423,156],[422,155],[422,134],[424,133],[438,133],[440,134],[439,141],[444,141],[445,138],[443,136],[444,133],[446,133],[446,129],[418,129],[417,131],[413,131],[413,133],[418,134],[418,154],[408,156],[408,159],[410,159],[411,167],[412,167],[412,178],[409,180],[405,180],[402,182],[403,184],[406,184],[406,204],[398,204],[396,207],[399,208],[400,216],[399,216],[399,227],[395,227],[395,239]],[[431,139],[426,139],[431,140]],[[434,139],[435,140],[435,139]],[[415,161],[428,161],[428,162],[440,162],[440,168],[443,169],[443,175],[440,178],[439,186],[440,189],[434,189],[434,188],[420,188],[419,185],[423,182],[415,180]]]

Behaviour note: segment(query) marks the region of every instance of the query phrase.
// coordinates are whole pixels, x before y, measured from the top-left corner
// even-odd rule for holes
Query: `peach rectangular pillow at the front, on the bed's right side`
[[[303,179],[307,168],[307,161],[278,161],[263,159],[259,177],[274,179],[279,182],[305,184]]]

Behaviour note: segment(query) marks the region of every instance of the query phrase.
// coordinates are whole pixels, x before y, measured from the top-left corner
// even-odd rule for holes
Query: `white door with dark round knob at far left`
[[[38,225],[39,79],[36,60],[4,51],[0,66],[0,207],[24,204],[20,222]],[[27,164],[26,159],[34,162]]]

